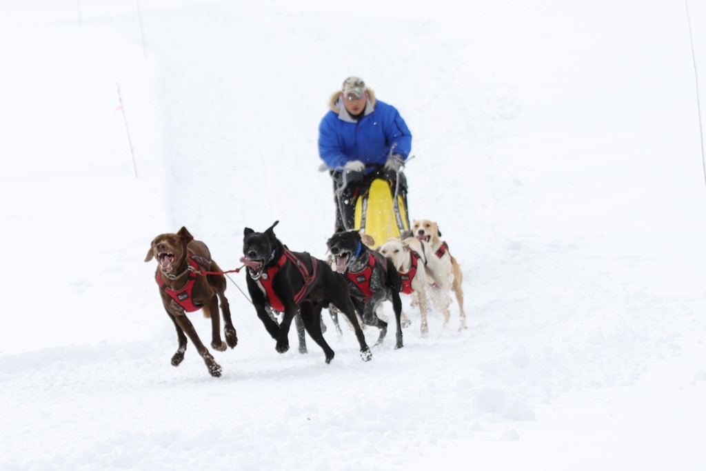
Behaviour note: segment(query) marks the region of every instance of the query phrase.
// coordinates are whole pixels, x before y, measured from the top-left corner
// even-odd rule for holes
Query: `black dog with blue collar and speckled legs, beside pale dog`
[[[402,280],[388,258],[369,249],[361,240],[358,231],[337,232],[326,242],[335,257],[336,271],[346,276],[353,305],[368,326],[380,329],[375,345],[383,341],[388,333],[388,323],[378,318],[376,309],[385,300],[393,302],[397,323],[397,343],[402,348]]]

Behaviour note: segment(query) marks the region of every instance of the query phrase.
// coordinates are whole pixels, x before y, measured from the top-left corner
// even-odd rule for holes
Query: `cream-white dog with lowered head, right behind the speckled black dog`
[[[426,323],[428,310],[426,291],[431,287],[431,283],[426,275],[422,244],[426,244],[426,242],[420,242],[414,237],[409,237],[403,241],[400,241],[400,239],[389,239],[388,242],[385,242],[376,250],[386,258],[389,258],[393,262],[397,273],[400,273],[400,278],[402,278],[401,292],[412,294],[412,296],[416,294],[417,302],[419,303],[419,314],[421,314],[420,331],[422,337],[426,337],[429,333],[429,326]],[[409,321],[404,311],[402,311],[402,318]]]

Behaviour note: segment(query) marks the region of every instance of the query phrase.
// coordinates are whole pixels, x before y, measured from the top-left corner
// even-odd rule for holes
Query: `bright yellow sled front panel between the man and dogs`
[[[405,201],[398,195],[399,210],[395,211],[393,191],[389,181],[374,179],[368,191],[358,198],[356,203],[355,229],[373,237],[375,245],[384,244],[387,239],[393,237],[400,237],[400,227],[403,231],[409,230]]]

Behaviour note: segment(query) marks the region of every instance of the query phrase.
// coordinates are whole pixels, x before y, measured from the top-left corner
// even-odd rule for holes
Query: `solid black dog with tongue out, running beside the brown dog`
[[[289,326],[298,309],[304,328],[323,349],[326,363],[329,363],[334,353],[323,338],[320,320],[321,309],[333,304],[353,324],[361,358],[365,361],[371,359],[345,278],[331,270],[324,261],[306,252],[287,249],[275,237],[273,229],[278,222],[275,221],[265,232],[255,232],[246,227],[243,239],[245,256],[240,259],[248,267],[248,291],[253,305],[265,329],[277,340],[277,352],[289,350]],[[268,315],[268,307],[284,313],[279,326]]]

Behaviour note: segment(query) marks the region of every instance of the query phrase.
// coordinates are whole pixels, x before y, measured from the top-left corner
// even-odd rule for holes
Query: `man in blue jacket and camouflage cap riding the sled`
[[[358,197],[383,172],[400,175],[406,205],[406,181],[399,170],[412,149],[412,133],[397,109],[376,100],[357,77],[343,81],[329,107],[318,129],[318,153],[333,177],[338,232],[354,227]]]

